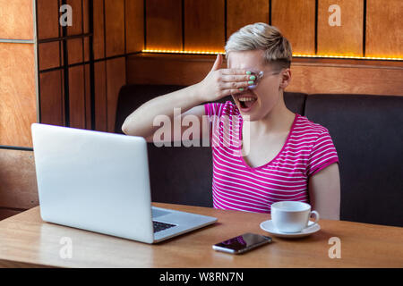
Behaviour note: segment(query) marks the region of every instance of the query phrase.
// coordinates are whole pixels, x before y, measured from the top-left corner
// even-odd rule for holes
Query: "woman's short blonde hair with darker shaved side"
[[[230,52],[262,50],[264,63],[274,63],[280,69],[289,68],[292,48],[279,29],[258,22],[238,29],[227,40],[226,59]]]

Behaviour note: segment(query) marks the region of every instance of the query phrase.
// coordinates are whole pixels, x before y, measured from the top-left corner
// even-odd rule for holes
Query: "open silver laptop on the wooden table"
[[[151,207],[147,143],[141,137],[31,125],[44,221],[156,243],[217,218]]]

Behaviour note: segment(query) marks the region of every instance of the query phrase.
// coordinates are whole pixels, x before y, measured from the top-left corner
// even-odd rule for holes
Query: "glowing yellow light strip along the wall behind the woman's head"
[[[179,51],[179,50],[149,50],[145,49],[142,53],[160,53],[160,54],[192,54],[192,55],[226,55],[222,52],[211,51]],[[301,55],[293,54],[293,57],[312,57],[312,58],[337,58],[337,59],[355,59],[355,60],[382,60],[382,61],[403,61],[401,57],[378,57],[378,56],[355,56],[355,55]]]

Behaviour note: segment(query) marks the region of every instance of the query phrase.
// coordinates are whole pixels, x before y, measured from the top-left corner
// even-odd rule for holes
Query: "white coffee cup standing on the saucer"
[[[315,217],[314,223],[318,223],[318,212],[311,212],[311,206],[303,202],[282,201],[271,205],[271,221],[281,232],[304,230],[308,226],[311,215]]]

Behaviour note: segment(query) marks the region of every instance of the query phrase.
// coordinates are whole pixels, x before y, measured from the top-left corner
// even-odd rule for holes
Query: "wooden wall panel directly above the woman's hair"
[[[269,23],[270,1],[227,0],[227,38],[255,22]]]

